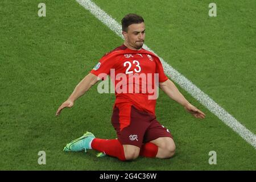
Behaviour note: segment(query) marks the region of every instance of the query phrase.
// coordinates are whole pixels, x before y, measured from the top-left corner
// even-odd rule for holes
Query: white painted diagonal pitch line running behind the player
[[[120,36],[123,39],[121,34],[122,26],[117,23],[110,15],[105,13],[104,10],[101,10],[94,2],[90,0],[76,0],[81,6],[83,6],[86,10],[89,10],[97,19],[99,19],[102,23],[108,26],[115,34]],[[146,45],[143,46],[144,49],[148,51],[152,51]],[[159,57],[159,56],[158,56]],[[225,109],[219,106],[216,102],[214,102],[207,94],[197,88],[191,81],[189,81],[186,77],[181,75],[176,69],[172,68],[171,65],[166,63],[161,57],[159,59],[162,61],[164,72],[166,75],[172,78],[177,84],[181,86],[184,90],[186,90],[192,97],[194,97],[197,101],[199,101],[202,105],[207,107],[207,109],[215,114],[222,122],[228,125],[232,130],[234,130],[238,135],[240,135],[243,139],[246,140],[251,146],[256,149],[256,135],[251,133],[250,130],[246,129],[245,126],[241,125],[240,122],[237,121],[232,115],[230,115]]]

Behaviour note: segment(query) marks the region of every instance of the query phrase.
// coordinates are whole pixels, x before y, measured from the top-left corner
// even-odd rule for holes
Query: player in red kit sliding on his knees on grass
[[[125,38],[122,46],[106,53],[56,112],[59,115],[65,107],[72,107],[91,86],[110,75],[116,96],[112,125],[118,138],[100,139],[86,132],[68,143],[64,151],[93,149],[119,160],[133,160],[138,156],[171,158],[175,143],[170,131],[156,120],[155,88],[159,86],[196,118],[204,118],[205,114],[191,105],[164,74],[159,58],[142,48],[145,25],[141,16],[126,15],[122,19],[122,34]]]

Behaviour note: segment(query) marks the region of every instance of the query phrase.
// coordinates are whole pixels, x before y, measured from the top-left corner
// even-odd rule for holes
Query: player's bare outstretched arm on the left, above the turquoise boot
[[[60,115],[60,111],[63,110],[65,107],[72,107],[75,100],[85,94],[85,92],[87,92],[94,84],[96,84],[96,82],[98,82],[97,76],[93,75],[92,73],[86,75],[76,86],[75,90],[73,91],[71,96],[69,96],[68,100],[60,105],[59,109],[56,112],[56,115]]]

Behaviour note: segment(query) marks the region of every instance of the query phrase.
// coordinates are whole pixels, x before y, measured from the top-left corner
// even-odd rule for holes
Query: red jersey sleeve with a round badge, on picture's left
[[[114,69],[117,63],[117,54],[109,53],[101,57],[100,61],[90,71],[93,75],[98,76],[101,80],[105,80],[106,76],[110,75],[110,69]]]

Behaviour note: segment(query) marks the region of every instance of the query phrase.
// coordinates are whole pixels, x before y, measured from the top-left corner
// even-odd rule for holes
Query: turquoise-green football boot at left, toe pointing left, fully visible
[[[63,151],[82,151],[86,152],[86,149],[89,149],[89,143],[94,139],[94,135],[88,131],[82,137],[72,140],[67,146],[64,147]]]

